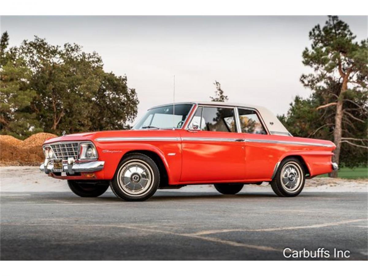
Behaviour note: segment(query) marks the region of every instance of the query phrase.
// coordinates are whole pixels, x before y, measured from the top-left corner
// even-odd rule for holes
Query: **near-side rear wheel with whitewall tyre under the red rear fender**
[[[304,167],[296,158],[283,160],[270,182],[272,190],[279,197],[296,197],[303,190],[304,183]]]

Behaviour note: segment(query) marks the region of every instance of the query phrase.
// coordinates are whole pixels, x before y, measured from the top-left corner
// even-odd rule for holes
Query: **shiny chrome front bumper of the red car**
[[[54,170],[53,162],[50,159],[45,159],[45,162],[41,164],[40,171],[44,171],[46,174],[49,173],[60,173],[60,170]],[[75,163],[74,159],[68,159],[66,163],[63,162],[63,172],[74,174],[74,173],[86,173],[92,171],[100,171],[103,169],[105,161],[91,161],[83,163]]]

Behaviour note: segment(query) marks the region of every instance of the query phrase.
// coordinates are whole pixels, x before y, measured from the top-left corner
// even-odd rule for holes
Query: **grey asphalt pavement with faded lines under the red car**
[[[1,260],[367,260],[367,193],[161,190],[145,202],[1,192]],[[334,250],[347,252],[337,258]],[[307,258],[312,259],[312,258]],[[314,259],[314,258],[313,258]],[[318,259],[318,258],[316,258]]]

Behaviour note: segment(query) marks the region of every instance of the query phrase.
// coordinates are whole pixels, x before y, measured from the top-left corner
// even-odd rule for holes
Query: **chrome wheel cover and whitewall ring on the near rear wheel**
[[[302,169],[296,162],[286,163],[280,174],[281,185],[287,192],[297,191],[303,181]]]

